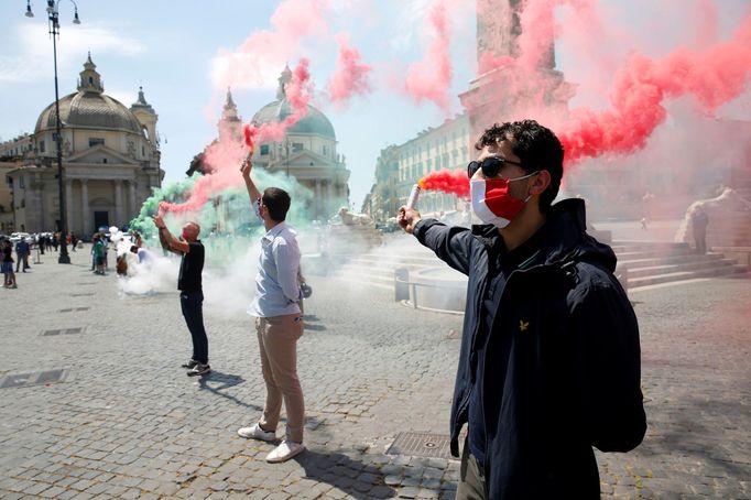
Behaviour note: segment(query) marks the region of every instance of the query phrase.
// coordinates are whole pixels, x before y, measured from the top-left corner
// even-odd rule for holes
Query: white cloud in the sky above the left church
[[[14,55],[0,55],[0,83],[26,83],[47,78],[52,69],[52,40],[45,35],[40,23],[29,23],[17,28],[4,47]],[[134,57],[146,47],[130,37],[121,36],[105,28],[65,26],[57,40],[57,73],[73,70],[86,61],[86,53],[97,55],[117,54]]]

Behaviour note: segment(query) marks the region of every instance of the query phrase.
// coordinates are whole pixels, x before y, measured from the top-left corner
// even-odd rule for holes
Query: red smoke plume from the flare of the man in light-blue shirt
[[[286,130],[300,121],[307,113],[307,104],[311,100],[309,79],[307,69],[308,61],[301,59],[292,72],[292,79],[284,87],[286,99],[292,108],[292,113],[276,123],[263,123],[255,127],[247,123],[243,127],[244,145],[253,149],[255,142],[280,141],[284,139]],[[206,202],[228,187],[242,182],[238,174],[237,165],[244,159],[248,150],[236,142],[215,142],[204,151],[203,161],[211,172],[198,178],[193,185],[188,199],[182,204],[160,202],[159,211],[191,213],[199,210]]]

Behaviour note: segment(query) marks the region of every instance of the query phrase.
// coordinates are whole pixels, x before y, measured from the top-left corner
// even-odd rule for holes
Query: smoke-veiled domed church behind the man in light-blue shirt
[[[276,123],[292,115],[284,86],[292,79],[290,67],[279,78],[276,100],[262,107],[252,118],[252,123]],[[311,189],[313,199],[307,211],[314,220],[327,220],[339,207],[349,206],[349,170],[344,155],[336,152],[336,133],[328,118],[313,106],[307,115],[290,127],[281,142],[258,144],[253,164],[270,172],[295,177]]]

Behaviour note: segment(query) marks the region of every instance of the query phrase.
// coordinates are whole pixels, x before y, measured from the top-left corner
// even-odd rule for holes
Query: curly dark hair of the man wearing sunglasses
[[[509,140],[511,151],[522,161],[524,172],[531,174],[546,170],[551,173],[551,185],[540,196],[540,209],[548,211],[558,195],[563,177],[564,149],[560,141],[551,129],[534,120],[522,120],[500,126],[493,123],[475,143],[475,149],[481,151],[487,145]]]

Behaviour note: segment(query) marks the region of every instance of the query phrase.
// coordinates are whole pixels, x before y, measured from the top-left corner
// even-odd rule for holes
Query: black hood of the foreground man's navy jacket
[[[475,226],[472,232],[488,243],[499,237],[492,225]],[[540,238],[540,256],[546,256],[545,264],[574,260],[599,264],[610,272],[616,270],[618,259],[612,249],[587,235],[584,199],[568,198],[553,205],[547,221],[533,238]]]

